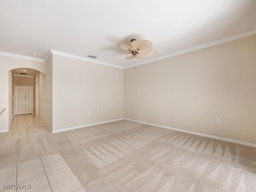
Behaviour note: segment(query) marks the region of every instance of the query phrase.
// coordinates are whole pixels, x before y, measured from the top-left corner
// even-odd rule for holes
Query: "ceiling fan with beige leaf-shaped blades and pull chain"
[[[126,59],[133,59],[133,58],[139,58],[144,59],[151,57],[155,54],[154,49],[152,49],[152,42],[149,40],[131,40],[131,46],[118,44],[118,47],[128,50],[128,53],[124,53],[121,55],[130,54],[126,57]]]

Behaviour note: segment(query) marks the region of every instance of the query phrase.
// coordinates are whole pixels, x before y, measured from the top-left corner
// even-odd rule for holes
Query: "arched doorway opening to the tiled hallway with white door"
[[[9,131],[44,126],[38,118],[38,98],[42,97],[42,87],[45,86],[42,76],[45,74],[32,68],[15,68],[9,71],[9,100],[12,101],[12,106],[9,106]]]

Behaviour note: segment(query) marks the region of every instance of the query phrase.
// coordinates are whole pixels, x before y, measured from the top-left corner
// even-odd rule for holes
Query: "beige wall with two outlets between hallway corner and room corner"
[[[52,94],[53,130],[124,117],[122,69],[53,55]]]

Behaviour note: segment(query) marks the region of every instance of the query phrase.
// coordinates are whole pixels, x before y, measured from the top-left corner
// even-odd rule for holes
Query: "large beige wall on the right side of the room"
[[[255,144],[255,72],[256,35],[126,69],[124,117]]]

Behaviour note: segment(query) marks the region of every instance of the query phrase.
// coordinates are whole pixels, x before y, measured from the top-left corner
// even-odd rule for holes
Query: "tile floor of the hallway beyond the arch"
[[[22,130],[22,129],[32,129],[43,127],[44,124],[39,120],[35,114],[24,114],[15,115],[12,118],[10,125],[10,131]]]

